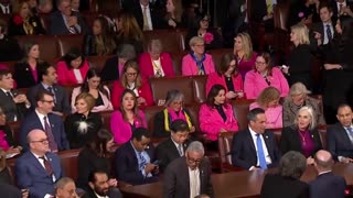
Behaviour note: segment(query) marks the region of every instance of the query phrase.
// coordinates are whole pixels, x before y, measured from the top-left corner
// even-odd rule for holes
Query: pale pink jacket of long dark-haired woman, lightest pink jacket
[[[110,91],[108,89],[107,86],[104,86],[104,89],[108,92],[108,96],[107,97],[106,95],[104,95],[103,92],[99,92],[100,97],[101,97],[101,100],[103,100],[103,106],[97,106],[97,107],[94,107],[92,109],[92,112],[100,112],[100,111],[109,111],[109,110],[113,110],[113,105],[111,105],[111,101],[110,101]],[[81,94],[81,87],[76,87],[73,89],[73,92],[71,95],[71,107],[72,107],[72,112],[75,113],[76,112],[76,107],[75,107],[75,100],[76,100],[76,97]]]

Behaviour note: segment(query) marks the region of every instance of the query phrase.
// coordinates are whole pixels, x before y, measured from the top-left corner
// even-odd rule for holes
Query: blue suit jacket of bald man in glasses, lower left
[[[51,163],[56,180],[62,178],[63,172],[58,156],[53,153],[46,153],[45,156]],[[18,186],[20,188],[29,188],[30,197],[43,198],[45,194],[54,195],[53,177],[46,173],[45,168],[31,152],[25,152],[17,160],[15,174]]]

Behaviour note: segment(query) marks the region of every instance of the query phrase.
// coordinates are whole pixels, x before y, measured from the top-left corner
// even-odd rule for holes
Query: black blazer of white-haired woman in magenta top
[[[313,156],[317,153],[317,151],[322,150],[321,139],[318,129],[309,131],[309,134],[312,138],[314,144],[314,148],[311,153],[311,156]],[[298,133],[298,128],[296,125],[290,125],[282,129],[279,145],[282,154],[286,154],[289,151],[297,151],[302,153],[300,136]]]

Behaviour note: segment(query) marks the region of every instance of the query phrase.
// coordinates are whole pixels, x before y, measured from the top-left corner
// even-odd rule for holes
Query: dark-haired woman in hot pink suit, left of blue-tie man
[[[199,111],[200,129],[206,139],[212,141],[211,148],[218,148],[218,134],[224,132],[237,132],[239,127],[234,118],[233,108],[226,101],[225,87],[214,85],[208,95],[206,103]]]

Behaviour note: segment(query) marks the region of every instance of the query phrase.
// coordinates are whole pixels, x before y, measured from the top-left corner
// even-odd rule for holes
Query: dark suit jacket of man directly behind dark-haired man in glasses
[[[44,90],[45,88],[41,82],[30,88],[28,91],[28,99],[32,103],[32,110],[35,108],[36,101],[35,101],[35,95],[39,90]],[[45,89],[46,90],[46,89]],[[68,97],[64,90],[63,87],[58,85],[53,85],[53,90],[55,92],[55,106],[53,108],[53,111],[63,112],[64,114],[71,113],[71,106],[68,102]]]

